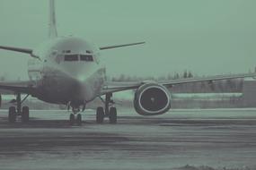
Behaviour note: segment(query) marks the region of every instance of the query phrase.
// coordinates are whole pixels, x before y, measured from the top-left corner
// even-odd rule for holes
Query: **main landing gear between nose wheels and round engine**
[[[117,108],[114,106],[110,107],[110,104],[114,104],[112,98],[112,93],[106,94],[106,99],[103,101],[105,103],[105,110],[102,106],[97,108],[96,113],[96,123],[103,123],[105,117],[109,117],[110,123],[117,123]]]

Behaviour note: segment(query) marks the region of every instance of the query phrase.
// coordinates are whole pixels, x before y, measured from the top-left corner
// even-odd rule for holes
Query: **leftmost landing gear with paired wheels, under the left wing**
[[[13,101],[13,103],[17,103],[17,107],[9,107],[9,123],[15,123],[17,116],[22,116],[22,123],[28,123],[30,121],[30,108],[28,106],[22,106],[23,101],[28,97],[29,95],[22,99],[21,93],[17,94],[16,99]]]

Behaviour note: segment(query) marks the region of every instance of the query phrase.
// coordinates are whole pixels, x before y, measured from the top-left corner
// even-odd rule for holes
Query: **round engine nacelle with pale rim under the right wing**
[[[171,94],[163,85],[148,82],[137,89],[134,107],[139,115],[162,115],[171,108]]]

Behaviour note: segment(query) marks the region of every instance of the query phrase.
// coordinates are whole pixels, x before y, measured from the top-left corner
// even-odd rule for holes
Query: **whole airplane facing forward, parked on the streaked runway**
[[[117,123],[117,109],[112,95],[123,90],[136,90],[134,108],[139,115],[162,115],[171,109],[172,86],[199,82],[255,77],[255,73],[209,76],[203,78],[178,79],[172,81],[114,82],[106,80],[106,68],[102,66],[100,53],[118,47],[143,45],[137,42],[116,46],[94,47],[83,38],[58,37],[56,27],[55,0],[49,0],[49,40],[35,49],[0,46],[0,49],[31,56],[28,61],[29,81],[0,82],[0,89],[13,91],[16,106],[9,107],[8,121],[15,123],[17,116],[23,123],[30,120],[30,109],[22,106],[29,96],[44,102],[66,105],[72,108],[70,124],[82,123],[86,104],[101,98],[104,107],[96,109],[96,123],[108,117]],[[171,91],[168,88],[171,87]],[[22,98],[22,94],[27,96]],[[105,97],[105,98],[102,98]],[[1,95],[0,95],[1,106]]]

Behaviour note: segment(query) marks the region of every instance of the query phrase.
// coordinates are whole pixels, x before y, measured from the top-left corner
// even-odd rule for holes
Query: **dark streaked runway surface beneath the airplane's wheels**
[[[70,126],[68,116],[31,111],[30,123],[10,124],[0,111],[0,169],[256,169],[254,109],[153,117],[122,110],[116,125],[96,124],[94,111],[83,114],[82,126]]]

